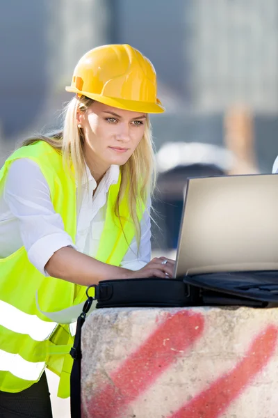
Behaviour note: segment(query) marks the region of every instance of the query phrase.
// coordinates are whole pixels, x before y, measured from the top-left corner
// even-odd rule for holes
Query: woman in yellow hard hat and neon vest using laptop
[[[152,63],[129,45],[95,48],[66,90],[63,131],[27,140],[1,170],[1,417],[51,417],[46,366],[69,396],[72,336],[44,314],[99,280],[173,274],[174,261],[149,261],[148,114],[164,111]]]

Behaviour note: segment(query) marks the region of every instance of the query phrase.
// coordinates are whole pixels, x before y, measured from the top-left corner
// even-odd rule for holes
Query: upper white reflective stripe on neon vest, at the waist
[[[19,334],[28,334],[35,341],[44,341],[54,332],[57,323],[46,322],[36,315],[13,307],[13,305],[0,300],[0,325]]]

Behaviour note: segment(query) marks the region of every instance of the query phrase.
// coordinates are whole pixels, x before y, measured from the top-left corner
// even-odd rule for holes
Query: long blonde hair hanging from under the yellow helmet
[[[67,165],[72,164],[79,186],[81,185],[81,179],[85,173],[85,160],[83,155],[84,137],[82,130],[78,127],[76,113],[78,110],[86,111],[92,102],[94,102],[94,100],[85,96],[81,96],[80,98],[76,96],[72,98],[63,112],[63,130],[26,139],[22,144],[22,146],[28,146],[41,140],[46,141],[56,150],[60,150],[63,155],[63,162]],[[148,115],[145,123],[144,135],[129,160],[120,167],[120,171],[122,179],[114,212],[121,222],[119,209],[120,202],[126,194],[126,189],[128,189],[129,214],[135,227],[136,240],[139,244],[141,231],[138,210],[140,210],[142,205],[145,206],[147,204],[148,196],[152,197],[156,182],[154,170],[154,144],[152,141],[152,129]],[[79,190],[80,189],[81,187],[79,187]]]

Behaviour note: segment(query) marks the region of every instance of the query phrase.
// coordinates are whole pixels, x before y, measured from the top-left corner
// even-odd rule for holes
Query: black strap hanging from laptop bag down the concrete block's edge
[[[72,418],[81,418],[81,328],[83,323],[85,322],[86,314],[92,306],[92,301],[96,298],[88,295],[88,290],[91,287],[95,287],[96,292],[95,285],[89,286],[86,291],[88,299],[86,300],[83,306],[83,311],[81,312],[81,315],[79,316],[79,318],[77,318],[74,345],[70,350],[70,355],[74,359],[72,373],[70,375],[70,412]]]

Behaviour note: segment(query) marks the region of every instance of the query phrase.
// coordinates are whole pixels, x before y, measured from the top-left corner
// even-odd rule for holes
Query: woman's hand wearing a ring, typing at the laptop
[[[165,263],[167,261],[167,263]],[[153,258],[152,261],[147,263],[145,267],[140,270],[129,272],[126,278],[128,279],[140,279],[141,277],[173,277],[174,275],[175,261],[170,258],[160,257]]]

